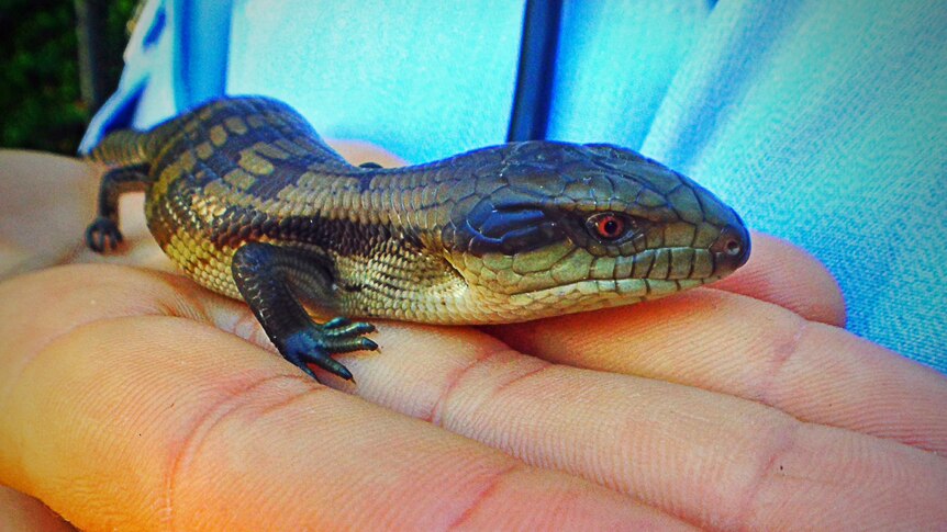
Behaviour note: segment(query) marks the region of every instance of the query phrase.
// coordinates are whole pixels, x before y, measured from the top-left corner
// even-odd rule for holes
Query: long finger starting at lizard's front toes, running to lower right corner
[[[442,349],[427,346],[438,336]],[[947,519],[933,453],[688,386],[523,356],[476,331],[379,327],[358,393],[711,529],[925,529]],[[393,353],[392,353],[393,352]]]

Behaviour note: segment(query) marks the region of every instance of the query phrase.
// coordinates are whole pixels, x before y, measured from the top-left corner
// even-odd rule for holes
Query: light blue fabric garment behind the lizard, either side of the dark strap
[[[224,90],[417,162],[501,143],[522,15],[499,0],[153,0],[83,147]],[[549,137],[692,176],[825,262],[851,331],[947,370],[947,3],[575,0],[559,43]]]

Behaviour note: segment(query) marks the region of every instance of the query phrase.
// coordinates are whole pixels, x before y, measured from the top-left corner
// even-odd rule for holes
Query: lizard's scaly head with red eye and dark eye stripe
[[[659,297],[721,279],[749,257],[749,234],[731,207],[634,151],[557,143],[495,149],[499,157],[452,194],[441,230],[447,260],[476,299],[458,309],[467,319]]]

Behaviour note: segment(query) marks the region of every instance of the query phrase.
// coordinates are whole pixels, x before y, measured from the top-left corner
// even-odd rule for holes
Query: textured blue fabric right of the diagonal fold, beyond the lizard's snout
[[[947,3],[721,2],[644,151],[821,259],[854,332],[947,370]]]

